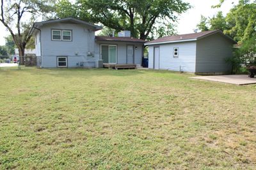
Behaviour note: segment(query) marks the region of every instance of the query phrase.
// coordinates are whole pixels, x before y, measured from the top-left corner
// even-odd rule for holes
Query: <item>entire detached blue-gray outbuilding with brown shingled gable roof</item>
[[[166,36],[148,45],[148,67],[196,74],[230,73],[226,62],[236,44],[221,31]]]

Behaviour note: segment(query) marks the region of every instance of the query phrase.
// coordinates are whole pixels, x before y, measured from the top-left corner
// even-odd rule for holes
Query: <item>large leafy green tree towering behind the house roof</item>
[[[76,12],[70,12],[76,9]],[[72,5],[62,0],[57,6],[60,18],[72,17],[115,29],[129,30],[134,38],[147,39],[159,19],[177,20],[177,15],[190,8],[182,0],[77,0]]]

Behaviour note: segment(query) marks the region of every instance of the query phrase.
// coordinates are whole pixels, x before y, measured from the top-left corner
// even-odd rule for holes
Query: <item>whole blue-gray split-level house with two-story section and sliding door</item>
[[[75,18],[36,22],[30,34],[35,36],[38,66],[95,67],[99,60],[141,65],[144,40],[95,36],[95,31],[100,29]]]

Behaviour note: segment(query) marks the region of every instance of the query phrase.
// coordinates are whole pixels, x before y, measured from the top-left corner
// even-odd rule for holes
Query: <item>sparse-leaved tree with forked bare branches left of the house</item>
[[[29,30],[33,22],[39,15],[52,11],[53,4],[53,0],[1,0],[0,21],[8,29],[15,45],[19,48],[21,64],[24,64],[24,51],[31,39]]]

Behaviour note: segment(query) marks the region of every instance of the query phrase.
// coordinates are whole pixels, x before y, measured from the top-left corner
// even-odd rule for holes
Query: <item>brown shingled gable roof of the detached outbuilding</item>
[[[210,36],[212,34],[220,33],[226,38],[230,39],[232,43],[236,44],[237,42],[234,41],[234,39],[230,38],[229,36],[223,34],[220,30],[215,31],[204,31],[204,32],[196,32],[192,34],[181,34],[176,36],[165,36],[163,38],[158,38],[153,41],[149,41],[145,43],[145,45],[157,45],[157,44],[164,44],[164,43],[178,43],[178,42],[184,42],[184,41],[196,41],[198,39],[205,38],[207,36]]]

